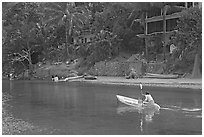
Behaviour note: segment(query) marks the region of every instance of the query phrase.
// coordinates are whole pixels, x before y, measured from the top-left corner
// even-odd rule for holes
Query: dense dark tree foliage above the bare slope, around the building
[[[146,29],[146,13],[166,5],[174,6],[175,3],[4,2],[3,72],[21,73],[26,69],[32,72],[33,65],[39,62],[76,58],[83,58],[85,65],[93,65],[116,57],[120,51],[142,53],[147,49],[146,38],[144,41],[136,35]],[[201,20],[201,9],[183,11],[177,26],[179,33],[172,39],[172,42],[181,43],[175,54],[175,58],[182,54],[178,64],[192,66],[194,53],[201,56]],[[73,42],[86,32],[94,35],[94,39],[87,43]]]

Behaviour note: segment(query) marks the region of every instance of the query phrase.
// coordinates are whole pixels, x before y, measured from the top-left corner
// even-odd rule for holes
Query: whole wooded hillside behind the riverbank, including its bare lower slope
[[[147,38],[137,37],[146,29],[146,14],[164,7],[168,7],[167,13],[173,12],[176,4],[3,2],[3,76],[124,76],[134,68],[138,75],[190,73],[201,77],[202,9],[179,9],[177,31],[167,44],[176,46],[171,55],[163,50],[163,36],[158,35],[153,46]],[[90,35],[94,37],[88,39]],[[135,55],[142,59],[130,61]]]

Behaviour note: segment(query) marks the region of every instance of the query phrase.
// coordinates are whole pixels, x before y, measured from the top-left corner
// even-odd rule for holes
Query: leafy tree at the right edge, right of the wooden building
[[[179,47],[182,64],[191,67],[191,70],[193,68],[193,78],[201,77],[202,10],[198,7],[183,10],[177,30],[172,41]]]

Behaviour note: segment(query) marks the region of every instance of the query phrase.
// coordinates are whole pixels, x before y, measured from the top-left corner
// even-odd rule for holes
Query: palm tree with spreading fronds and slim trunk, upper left
[[[49,2],[42,4],[44,8],[44,24],[46,26],[65,25],[65,56],[69,55],[68,47],[75,28],[82,28],[89,20],[89,12],[85,6],[76,6],[74,2]]]

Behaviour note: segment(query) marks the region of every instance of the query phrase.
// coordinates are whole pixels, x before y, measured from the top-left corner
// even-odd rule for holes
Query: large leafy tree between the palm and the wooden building
[[[112,3],[93,3],[89,6],[92,13],[89,30],[95,34],[95,38],[91,43],[80,46],[79,52],[93,64],[119,53],[120,41],[125,34],[126,24],[123,21],[127,13],[125,8]],[[101,7],[100,10],[98,7]]]

